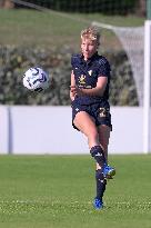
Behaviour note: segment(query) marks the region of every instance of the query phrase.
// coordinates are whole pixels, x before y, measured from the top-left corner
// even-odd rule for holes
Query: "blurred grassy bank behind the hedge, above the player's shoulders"
[[[81,20],[80,20],[81,19]],[[36,10],[0,10],[0,44],[6,46],[40,46],[53,49],[54,46],[71,46],[79,50],[80,31],[92,21],[111,23],[122,27],[143,26],[140,17],[105,17],[100,13],[42,13]],[[103,46],[118,46],[114,34],[104,30]],[[114,40],[115,39],[115,40]],[[118,48],[117,47],[117,48]]]

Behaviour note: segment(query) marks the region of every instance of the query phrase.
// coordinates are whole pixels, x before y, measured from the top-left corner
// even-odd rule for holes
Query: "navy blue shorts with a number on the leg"
[[[76,115],[80,111],[85,111],[87,113],[89,113],[94,119],[95,126],[105,125],[109,126],[112,130],[110,106],[108,101],[101,101],[91,105],[80,105],[79,102],[77,102],[77,100],[73,100],[71,107],[72,126],[77,130],[79,129],[74,126],[73,120],[76,118]]]

